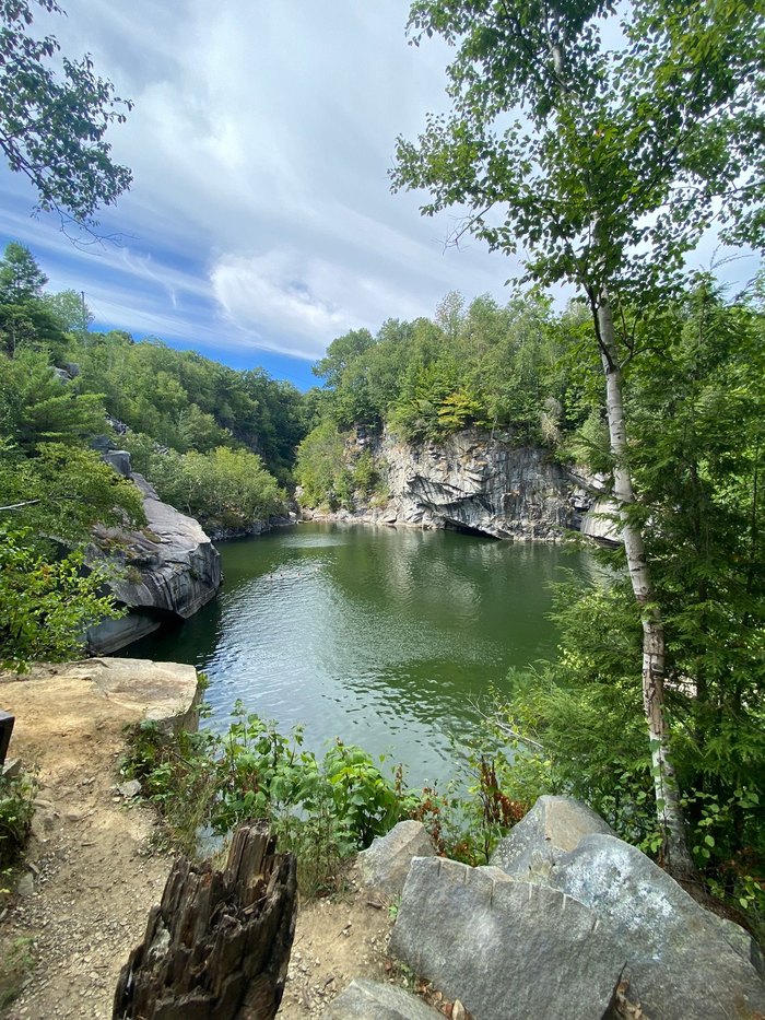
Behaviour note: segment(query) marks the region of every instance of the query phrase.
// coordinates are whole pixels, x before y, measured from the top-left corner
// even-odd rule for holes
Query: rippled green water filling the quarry
[[[549,585],[586,552],[450,531],[301,525],[221,543],[217,599],[126,649],[210,678],[209,725],[234,702],[320,750],[345,742],[403,762],[412,784],[448,778],[451,739],[480,730],[476,700],[510,666],[554,654]]]

